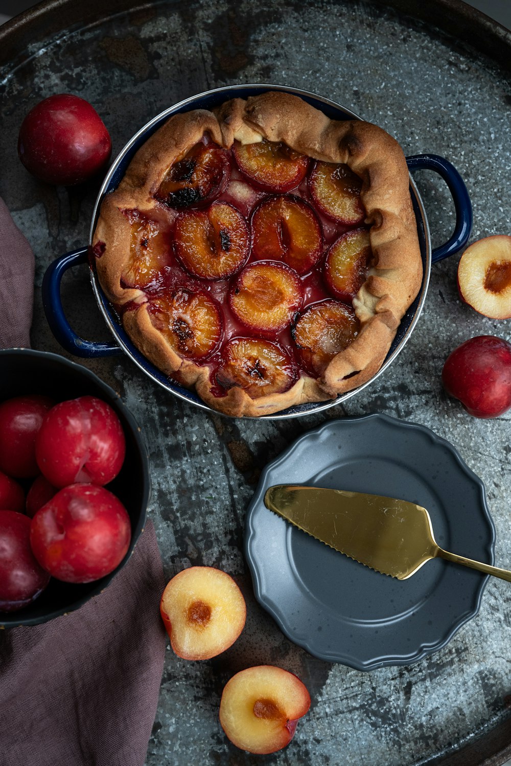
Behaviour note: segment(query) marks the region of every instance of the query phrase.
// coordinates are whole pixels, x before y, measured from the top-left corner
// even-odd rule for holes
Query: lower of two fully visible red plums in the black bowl
[[[35,557],[64,582],[91,582],[108,575],[126,555],[130,538],[122,502],[93,484],[64,487],[31,522]]]

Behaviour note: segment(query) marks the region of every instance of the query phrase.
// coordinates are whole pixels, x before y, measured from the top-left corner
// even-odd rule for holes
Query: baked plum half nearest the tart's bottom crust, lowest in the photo
[[[296,365],[287,352],[275,343],[254,338],[229,341],[217,372],[223,388],[244,388],[253,399],[287,391],[296,378]]]

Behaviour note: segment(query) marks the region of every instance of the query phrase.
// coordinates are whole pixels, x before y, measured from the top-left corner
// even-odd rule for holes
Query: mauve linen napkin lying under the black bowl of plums
[[[0,231],[0,345],[28,347],[34,255],[2,199]],[[0,766],[142,766],[165,655],[164,585],[148,522],[102,594],[0,631]]]

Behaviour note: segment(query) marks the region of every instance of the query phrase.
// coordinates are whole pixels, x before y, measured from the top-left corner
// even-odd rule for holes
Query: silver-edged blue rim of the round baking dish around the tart
[[[114,159],[112,165],[110,165],[110,169],[106,173],[106,176],[103,179],[103,184],[101,185],[100,191],[98,191],[98,194],[97,194],[97,198],[93,208],[93,214],[92,214],[91,222],[90,222],[89,247],[92,247],[93,234],[96,228],[97,218],[99,217],[99,214],[100,214],[100,205],[105,195],[109,193],[110,191],[110,190],[107,191],[107,188],[109,187],[110,182],[112,181],[113,175],[115,175],[115,173],[119,169],[119,165],[121,164],[121,162],[123,162],[123,159],[126,157],[126,154],[129,152],[130,149],[133,148],[133,146],[137,142],[139,142],[139,139],[142,138],[142,136],[145,136],[146,133],[149,133],[149,131],[152,131],[153,128],[156,129],[156,126],[159,123],[162,123],[164,119],[168,119],[173,114],[184,110],[185,107],[189,106],[191,109],[194,108],[194,105],[196,106],[196,103],[201,99],[205,99],[209,97],[220,97],[221,95],[222,96],[224,95],[225,98],[227,99],[228,97],[233,97],[233,94],[241,90],[254,91],[254,93],[261,93],[267,90],[280,90],[280,91],[283,91],[284,93],[292,93],[293,95],[296,95],[299,97],[305,97],[306,99],[313,100],[314,102],[316,102],[316,104],[314,104],[316,108],[320,108],[319,106],[317,106],[317,104],[324,104],[329,109],[336,110],[344,115],[351,116],[352,119],[363,120],[362,117],[352,112],[352,110],[349,110],[346,106],[342,106],[342,104],[336,103],[335,101],[332,101],[331,99],[328,99],[323,96],[318,96],[316,93],[312,93],[311,91],[308,91],[308,90],[302,90],[300,88],[290,87],[287,85],[276,85],[273,83],[239,83],[234,85],[227,85],[224,87],[212,88],[211,90],[205,90],[205,91],[202,91],[201,93],[196,93],[193,96],[187,97],[179,101],[178,103],[175,103],[172,106],[169,106],[167,109],[163,110],[156,116],[152,117],[152,119],[150,119],[148,123],[142,126],[131,137],[131,139],[129,139],[129,141],[125,144],[125,146],[123,146],[123,149],[120,150],[119,154],[116,155],[116,159]],[[346,119],[346,117],[344,119]],[[360,391],[362,391],[364,388],[372,384],[372,382],[375,381],[375,379],[378,378],[379,375],[382,375],[382,373],[385,372],[388,366],[391,365],[391,362],[394,362],[395,358],[405,347],[405,344],[408,342],[408,339],[411,336],[411,332],[413,332],[414,327],[416,326],[418,319],[421,316],[422,309],[424,307],[424,302],[426,300],[427,288],[429,286],[429,280],[431,276],[431,234],[429,230],[429,224],[427,222],[427,215],[424,208],[424,203],[422,201],[421,195],[419,194],[417,185],[415,184],[410,171],[408,171],[408,182],[411,188],[411,192],[413,194],[412,204],[414,205],[415,219],[417,221],[418,228],[421,227],[424,234],[424,252],[423,252],[423,247],[421,244],[421,255],[423,259],[423,277],[422,277],[421,289],[419,290],[418,296],[414,300],[414,303],[412,303],[412,306],[410,306],[408,308],[408,311],[405,313],[405,317],[406,317],[408,316],[408,313],[413,311],[413,314],[411,316],[410,321],[408,322],[408,326],[405,330],[404,335],[397,342],[397,344],[395,345],[395,348],[393,349],[391,348],[389,350],[385,358],[385,361],[383,362],[382,366],[378,369],[378,372],[376,372],[375,375],[372,376],[372,378],[369,378],[369,381],[365,381],[365,383],[358,386],[358,388],[354,388],[352,389],[352,391],[347,391],[345,394],[339,394],[337,398],[331,399],[329,401],[313,402],[309,404],[299,404],[291,408],[287,408],[286,410],[276,412],[274,414],[259,415],[251,419],[253,420],[287,420],[291,417],[301,417],[304,415],[316,414],[317,412],[321,412],[331,407],[334,407],[336,404],[341,404],[342,402],[346,401],[352,396],[355,396],[355,394],[359,394]],[[165,376],[161,371],[158,370],[158,368],[156,368],[156,365],[153,365],[152,362],[149,362],[149,359],[147,359],[141,354],[141,352],[138,352],[136,347],[132,344],[132,342],[129,339],[123,338],[123,336],[120,334],[120,329],[122,330],[122,328],[120,328],[116,324],[116,322],[113,320],[112,316],[110,316],[110,310],[108,308],[108,306],[110,306],[110,303],[108,302],[108,300],[106,300],[106,296],[104,296],[103,290],[101,290],[99,281],[97,280],[96,270],[93,268],[93,263],[91,262],[91,259],[89,262],[89,267],[90,267],[89,268],[90,283],[92,285],[93,293],[96,298],[97,304],[100,308],[100,312],[102,313],[103,319],[106,322],[106,326],[108,326],[108,328],[110,329],[110,332],[112,332],[113,334],[113,337],[116,339],[116,342],[120,345],[120,348],[123,350],[123,352],[126,353],[129,359],[132,362],[134,362],[136,366],[139,367],[140,370],[142,370],[142,372],[148,375],[149,378],[151,378],[153,381],[158,383],[162,388],[164,388],[165,391],[169,391],[171,394],[174,394],[176,397],[178,397],[182,401],[186,401],[188,402],[188,404],[193,404],[195,405],[195,407],[201,408],[202,410],[205,410],[211,414],[221,414],[224,417],[234,418],[234,416],[232,415],[226,415],[218,410],[215,410],[209,407],[208,404],[205,404],[204,401],[201,401],[201,399],[195,394],[195,392],[187,391],[185,388],[179,387],[179,384],[177,383],[174,384],[171,378],[169,378],[168,376]],[[401,319],[401,322],[402,321],[403,320]],[[140,355],[140,358],[137,358],[138,355]]]

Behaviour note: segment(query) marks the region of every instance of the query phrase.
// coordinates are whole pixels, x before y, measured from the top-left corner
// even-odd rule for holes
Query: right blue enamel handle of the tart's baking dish
[[[412,173],[416,170],[433,170],[438,173],[446,182],[454,201],[456,225],[450,239],[440,247],[435,247],[431,253],[431,262],[436,264],[437,260],[454,255],[467,244],[472,230],[472,203],[463,178],[448,159],[437,154],[417,154],[407,157],[406,162]]]

